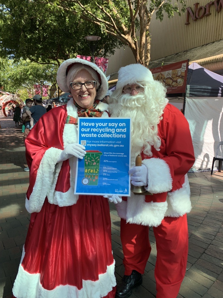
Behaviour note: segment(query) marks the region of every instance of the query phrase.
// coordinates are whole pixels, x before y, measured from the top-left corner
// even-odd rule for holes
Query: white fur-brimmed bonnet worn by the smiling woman
[[[56,76],[56,80],[59,88],[63,92],[70,93],[70,89],[67,87],[67,72],[70,69],[70,67],[73,66],[75,63],[88,65],[96,71],[98,75],[98,80],[100,82],[100,87],[98,88],[96,99],[101,100],[102,98],[104,98],[108,91],[108,80],[106,76],[95,63],[92,63],[80,58],[67,59],[59,66],[59,69],[57,71],[57,76]]]

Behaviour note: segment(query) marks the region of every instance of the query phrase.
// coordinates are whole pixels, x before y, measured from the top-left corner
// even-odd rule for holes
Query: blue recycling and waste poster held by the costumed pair
[[[77,162],[75,194],[130,196],[130,135],[130,118],[78,117],[87,153]]]

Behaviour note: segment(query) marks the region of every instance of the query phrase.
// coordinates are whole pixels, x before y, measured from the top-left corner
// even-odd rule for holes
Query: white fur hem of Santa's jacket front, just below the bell
[[[117,212],[130,224],[143,226],[159,226],[167,211],[167,202],[145,202],[145,195],[134,195],[127,198],[127,204],[122,201],[117,205]]]

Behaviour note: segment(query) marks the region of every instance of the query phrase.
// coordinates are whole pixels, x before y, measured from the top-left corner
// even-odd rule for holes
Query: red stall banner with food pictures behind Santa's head
[[[167,88],[167,94],[186,93],[188,65],[189,60],[184,60],[151,68],[150,71],[154,80],[160,81]]]

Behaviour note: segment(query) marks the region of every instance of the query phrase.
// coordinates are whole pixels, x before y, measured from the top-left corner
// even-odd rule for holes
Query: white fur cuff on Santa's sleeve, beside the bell
[[[142,164],[148,169],[148,186],[150,193],[165,193],[172,189],[172,177],[168,164],[160,158],[144,159]]]

